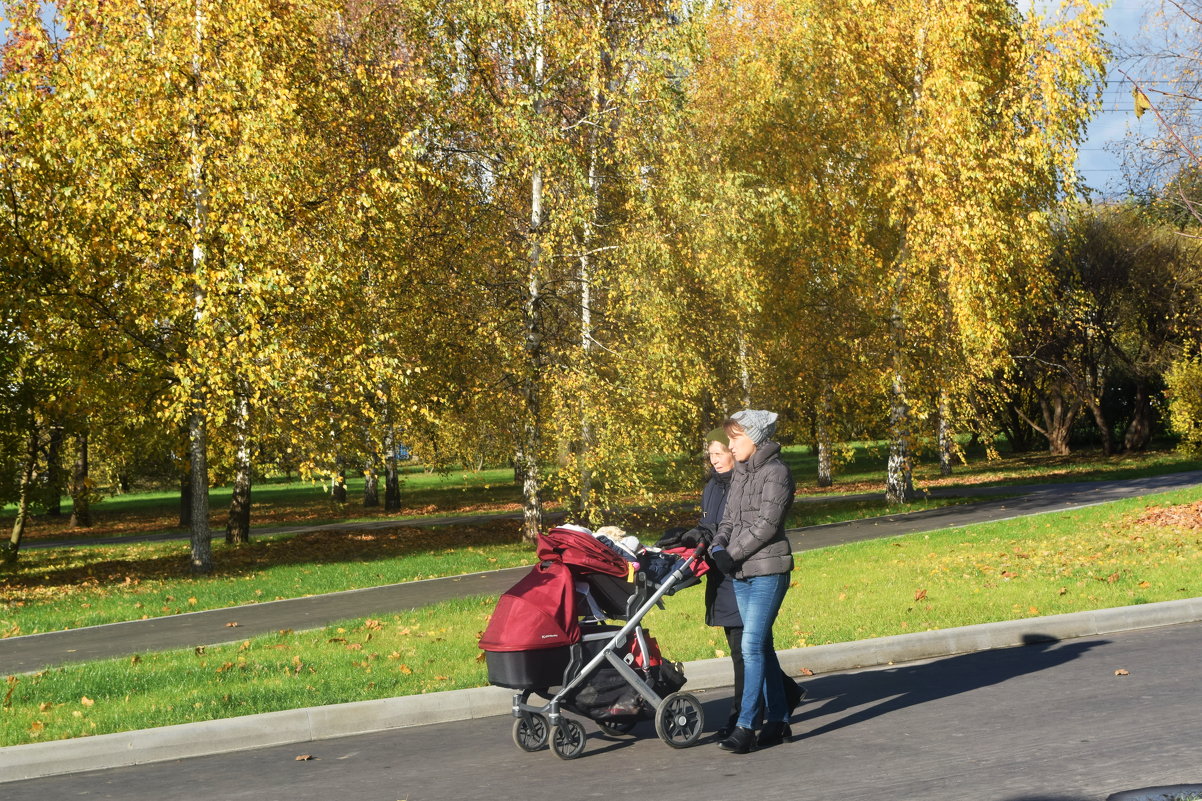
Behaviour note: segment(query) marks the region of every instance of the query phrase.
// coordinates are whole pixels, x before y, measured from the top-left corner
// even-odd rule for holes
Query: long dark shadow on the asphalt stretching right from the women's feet
[[[1018,676],[1055,668],[1109,642],[1095,640],[1060,645],[1047,635],[1027,635],[1024,641],[1027,645],[1023,647],[978,651],[918,665],[839,674],[807,681],[804,686],[809,700],[801,707],[797,718],[803,725],[793,724],[793,738],[817,737],[889,712],[1000,684]],[[850,712],[851,710],[855,712]],[[845,712],[850,714],[839,717]],[[807,719],[832,716],[837,719],[817,729],[805,730]]]

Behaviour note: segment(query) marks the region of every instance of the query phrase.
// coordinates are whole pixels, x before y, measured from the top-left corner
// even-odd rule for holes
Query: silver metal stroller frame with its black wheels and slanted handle
[[[627,601],[626,623],[618,631],[582,635],[582,642],[596,642],[605,639],[608,639],[609,642],[583,666],[573,658],[565,671],[565,678],[567,676],[571,678],[549,698],[547,704],[541,706],[529,704],[530,695],[535,690],[526,689],[513,694],[513,717],[517,718],[513,722],[513,742],[518,748],[532,752],[549,743],[551,749],[560,759],[575,759],[584,753],[584,726],[578,720],[566,717],[560,707],[565,699],[588,681],[603,663],[612,665],[654,710],[655,732],[660,740],[673,748],[688,748],[697,742],[704,728],[701,701],[689,693],[672,693],[666,698],[660,698],[655,689],[617,654],[617,649],[625,646],[627,639],[633,636],[638,642],[639,651],[647,658],[649,651],[642,628],[643,617],[654,606],[664,609],[661,599],[671,593],[678,582],[692,576],[690,568],[702,558],[704,550],[704,545],[698,546],[684,562],[677,565],[650,595],[647,594],[647,577],[639,572],[636,577],[636,591]],[[635,723],[614,720],[612,723],[597,722],[597,725],[608,735],[623,735],[629,732]]]

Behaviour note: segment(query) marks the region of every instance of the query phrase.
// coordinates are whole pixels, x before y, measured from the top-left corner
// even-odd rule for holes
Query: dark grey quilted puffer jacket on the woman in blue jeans
[[[726,509],[714,545],[730,552],[736,578],[770,576],[793,569],[785,516],[793,504],[793,474],[780,458],[780,444],[763,443],[746,462],[736,462]]]

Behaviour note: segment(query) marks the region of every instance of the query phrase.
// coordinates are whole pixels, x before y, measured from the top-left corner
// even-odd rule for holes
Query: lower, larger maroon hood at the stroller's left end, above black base
[[[581,640],[572,572],[559,562],[535,565],[496,601],[480,637],[484,651],[557,648]]]

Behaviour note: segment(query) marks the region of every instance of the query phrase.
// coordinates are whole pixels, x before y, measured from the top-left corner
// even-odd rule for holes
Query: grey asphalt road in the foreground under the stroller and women
[[[805,682],[795,741],[672,749],[649,724],[584,754],[524,753],[507,716],[6,783],[5,801],[1102,801],[1202,782],[1202,624]],[[1126,675],[1117,675],[1125,671]],[[707,720],[730,690],[700,694]],[[707,725],[713,728],[713,723]],[[311,759],[298,760],[308,755]]]

